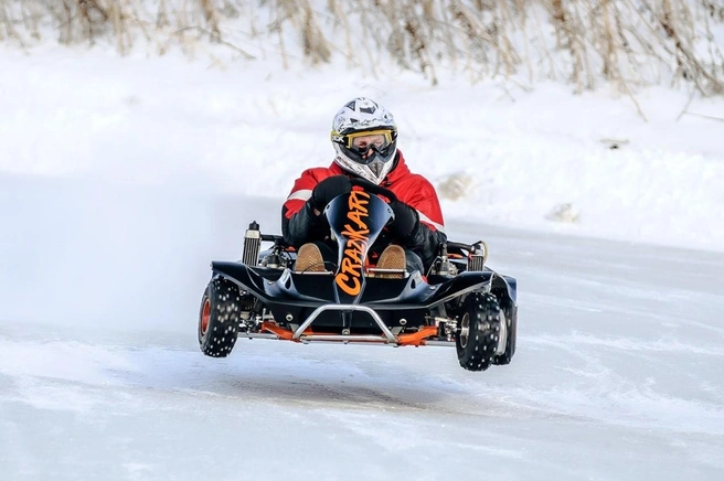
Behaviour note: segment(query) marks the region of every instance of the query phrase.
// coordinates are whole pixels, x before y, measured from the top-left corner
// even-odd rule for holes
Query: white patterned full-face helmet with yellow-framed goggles
[[[380,184],[394,167],[397,126],[392,114],[372,99],[348,101],[332,121],[334,162],[342,169]]]

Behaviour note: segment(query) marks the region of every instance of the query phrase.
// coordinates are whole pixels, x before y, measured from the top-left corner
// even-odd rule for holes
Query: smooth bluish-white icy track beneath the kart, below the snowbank
[[[450,222],[519,279],[511,365],[265,340],[214,360],[207,263],[277,205],[0,186],[2,480],[724,479],[722,254]]]

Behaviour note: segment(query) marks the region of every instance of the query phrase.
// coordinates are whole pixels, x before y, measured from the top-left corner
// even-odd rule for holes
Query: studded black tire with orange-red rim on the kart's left
[[[223,277],[211,279],[201,298],[199,310],[199,345],[211,357],[231,354],[239,323],[238,286]]]

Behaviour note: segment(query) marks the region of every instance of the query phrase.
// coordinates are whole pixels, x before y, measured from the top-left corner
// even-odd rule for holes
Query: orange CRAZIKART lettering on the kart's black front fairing
[[[365,206],[370,203],[370,194],[352,191],[348,202],[347,220],[350,223],[344,224],[344,231],[341,232],[347,242],[334,281],[349,296],[356,296],[362,287],[363,257],[370,240],[370,227],[366,224],[370,214]]]

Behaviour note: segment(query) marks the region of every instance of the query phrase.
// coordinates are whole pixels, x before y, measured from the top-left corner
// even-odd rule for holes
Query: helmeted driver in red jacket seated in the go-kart
[[[281,207],[284,239],[298,249],[295,270],[334,270],[337,246],[321,213],[329,201],[350,192],[350,178],[358,177],[397,196],[390,203],[394,221],[370,247],[371,264],[425,275],[447,239],[443,212],[433,184],[412,173],[397,149],[392,114],[372,99],[354,98],[334,116],[331,140],[332,164],[305,170]]]

